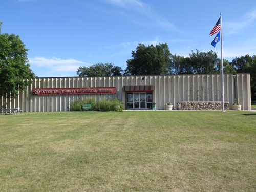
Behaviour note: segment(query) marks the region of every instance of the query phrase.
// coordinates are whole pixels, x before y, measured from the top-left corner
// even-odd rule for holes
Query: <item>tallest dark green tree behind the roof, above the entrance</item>
[[[139,44],[132,51],[132,59],[127,60],[125,74],[131,75],[164,75],[168,74],[170,52],[167,44],[145,46]]]

